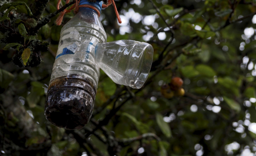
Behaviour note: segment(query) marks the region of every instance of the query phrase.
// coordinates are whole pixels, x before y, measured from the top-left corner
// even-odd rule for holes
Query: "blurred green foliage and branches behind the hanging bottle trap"
[[[152,44],[148,81],[135,90],[101,71],[91,121],[65,130],[45,119],[44,104],[60,30],[74,13],[56,26],[57,16],[45,18],[56,0],[1,0],[0,155],[256,155],[256,1],[115,2],[122,24],[113,6],[100,16],[108,41]],[[163,87],[172,77],[184,81],[184,96]]]

